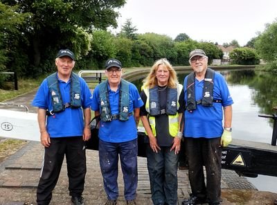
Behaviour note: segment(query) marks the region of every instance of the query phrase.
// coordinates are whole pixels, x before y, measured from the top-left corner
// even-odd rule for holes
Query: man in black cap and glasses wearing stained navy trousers
[[[100,116],[99,161],[107,202],[114,205],[118,198],[118,155],[124,179],[124,196],[128,205],[136,204],[137,131],[139,108],[143,101],[135,85],[123,80],[122,64],[111,58],[105,64],[107,80],[93,91],[91,109]]]

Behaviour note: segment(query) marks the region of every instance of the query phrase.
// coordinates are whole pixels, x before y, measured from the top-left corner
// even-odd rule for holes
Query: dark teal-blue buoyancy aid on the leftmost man
[[[53,110],[47,111],[48,115],[62,112],[68,107],[79,108],[82,106],[79,75],[76,73],[71,72],[70,76],[70,104],[63,103],[62,95],[60,93],[60,86],[57,79],[57,72],[47,77],[47,84],[53,105]]]

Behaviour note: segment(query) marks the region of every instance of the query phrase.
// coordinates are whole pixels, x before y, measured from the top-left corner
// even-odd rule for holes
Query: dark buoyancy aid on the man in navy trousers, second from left
[[[127,121],[129,116],[129,82],[121,79],[120,91],[119,91],[119,114],[111,115],[111,107],[109,104],[109,91],[107,87],[108,81],[105,80],[99,84],[100,93],[100,108],[101,108],[101,120],[103,122],[112,121],[118,119],[120,121]]]

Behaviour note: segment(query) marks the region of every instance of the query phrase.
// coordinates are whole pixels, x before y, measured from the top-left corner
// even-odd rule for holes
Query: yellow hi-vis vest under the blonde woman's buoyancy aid
[[[148,113],[150,113],[150,92],[149,92],[149,87],[142,87],[145,95],[147,96],[147,100],[145,103],[145,109]],[[181,90],[183,89],[183,85],[181,84],[177,84],[177,109],[176,111],[179,109],[180,105],[179,105],[179,96],[181,94]],[[167,99],[168,100],[168,99]],[[168,105],[171,105],[172,102],[167,102]],[[169,127],[169,134],[172,137],[177,136],[177,132],[178,132],[178,118],[179,118],[179,113],[176,112],[176,114],[168,114],[168,127]],[[155,121],[155,116],[150,116],[148,115],[148,121],[152,130],[152,133],[154,134],[154,136],[157,136],[157,132],[156,132],[156,121]],[[148,133],[145,130],[145,134],[148,135]]]

